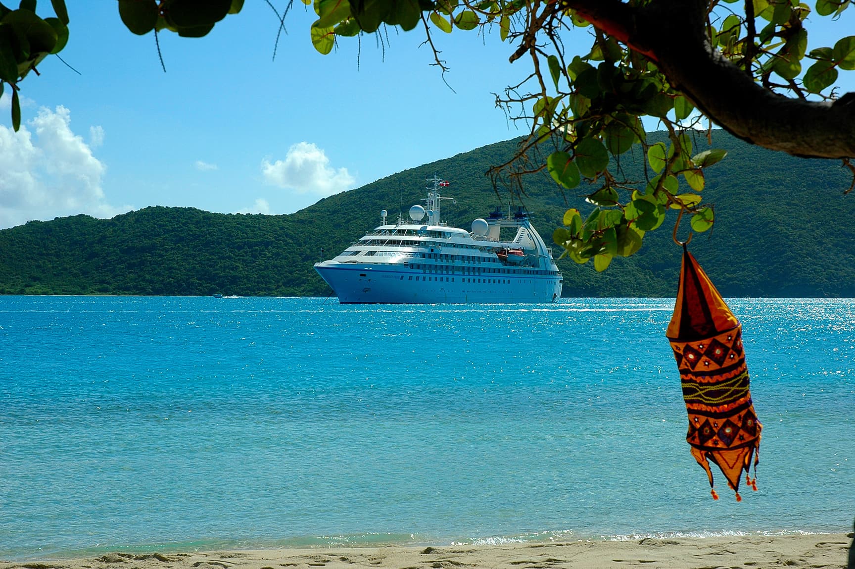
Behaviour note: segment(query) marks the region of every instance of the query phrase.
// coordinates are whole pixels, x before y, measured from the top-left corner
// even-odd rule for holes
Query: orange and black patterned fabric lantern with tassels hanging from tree
[[[680,289],[666,336],[680,370],[692,454],[710,477],[713,498],[718,495],[710,462],[721,469],[740,501],[742,471],[746,483],[757,489],[757,478],[749,475],[749,469],[753,456],[756,476],[763,429],[749,390],[742,325],[685,245]]]

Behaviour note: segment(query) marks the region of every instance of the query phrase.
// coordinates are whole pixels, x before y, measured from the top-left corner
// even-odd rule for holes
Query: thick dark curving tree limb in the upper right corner
[[[564,0],[595,27],[657,62],[713,122],[751,144],[793,156],[855,157],[855,101],[787,98],[759,86],[713,50],[705,33],[706,0]]]

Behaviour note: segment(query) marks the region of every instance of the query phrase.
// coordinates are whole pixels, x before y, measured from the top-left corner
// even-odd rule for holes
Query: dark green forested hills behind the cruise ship
[[[650,139],[662,139],[652,133]],[[475,217],[510,196],[493,192],[484,173],[502,163],[516,141],[484,146],[425,164],[350,192],[321,199],[288,216],[216,214],[149,207],[109,220],[89,216],[28,222],[0,231],[0,293],[327,295],[312,264],[345,249],[379,222],[425,197],[434,173],[451,181],[444,217],[469,228]],[[704,134],[695,150],[706,147]],[[725,296],[855,297],[855,193],[839,163],[803,160],[713,133],[730,153],[707,172],[706,201],[716,205],[712,232],[690,249]],[[624,161],[642,181],[641,151]],[[551,243],[567,207],[583,212],[576,188],[567,202],[548,175],[526,181],[523,202]],[[515,200],[516,201],[516,200]],[[569,296],[673,296],[680,247],[671,241],[675,211],[649,233],[640,252],[615,258],[604,273],[593,262],[559,261]],[[684,222],[685,223],[685,222]],[[686,223],[687,225],[687,223]],[[686,228],[681,232],[685,235]],[[554,246],[556,256],[560,251]]]

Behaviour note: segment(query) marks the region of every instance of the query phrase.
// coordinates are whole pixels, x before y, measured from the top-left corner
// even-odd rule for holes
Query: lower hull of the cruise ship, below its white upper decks
[[[315,270],[342,304],[542,303],[555,301],[562,287],[551,275],[435,275],[406,265],[324,261]]]

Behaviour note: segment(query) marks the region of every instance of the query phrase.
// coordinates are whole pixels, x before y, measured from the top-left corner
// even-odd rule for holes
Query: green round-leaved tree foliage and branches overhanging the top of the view
[[[704,190],[709,169],[727,152],[695,147],[689,133],[702,116],[771,150],[840,158],[855,176],[848,162],[855,157],[855,93],[834,91],[840,70],[855,68],[855,36],[808,50],[805,26],[809,15],[835,18],[855,0],[303,1],[315,9],[309,36],[322,54],[338,41],[398,27],[420,29],[444,71],[436,33],[486,38],[495,31],[511,62],[527,57],[532,72],[497,104],[530,131],[489,173],[494,184],[524,193],[523,176],[545,169],[562,191],[582,193],[593,210],[567,210],[553,238],[576,263],[593,258],[597,270],[637,252],[669,210],[686,214],[695,232],[713,227],[716,213]],[[63,0],[52,2],[56,18],[44,20],[35,15],[35,0],[21,0],[17,10],[0,5],[0,86],[13,88],[15,128],[16,83],[68,38]],[[291,3],[282,15],[276,11],[280,26]],[[242,5],[118,2],[133,33],[166,29],[186,37],[209,33]],[[572,33],[587,33],[590,49],[570,53],[564,39]],[[642,120],[650,117],[667,139],[649,143]],[[636,144],[646,155],[641,187],[622,169]]]

